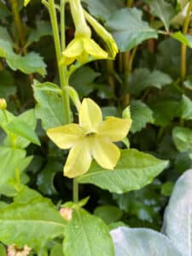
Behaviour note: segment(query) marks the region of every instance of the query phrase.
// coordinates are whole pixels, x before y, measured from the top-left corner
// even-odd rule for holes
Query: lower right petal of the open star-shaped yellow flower
[[[91,154],[100,166],[113,170],[119,160],[120,150],[113,143],[96,137],[91,143]]]

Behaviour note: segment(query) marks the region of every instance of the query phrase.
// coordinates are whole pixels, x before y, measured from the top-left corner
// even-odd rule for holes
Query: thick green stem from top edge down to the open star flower
[[[69,96],[68,96],[68,93],[66,90],[66,86],[68,85],[68,76],[67,76],[66,67],[61,66],[59,64],[61,61],[62,53],[61,53],[60,34],[59,34],[59,28],[58,28],[58,24],[57,24],[54,0],[49,0],[49,15],[50,15],[51,26],[53,29],[56,60],[57,60],[57,64],[58,64],[59,76],[60,76],[60,82],[61,82],[62,102],[63,102],[63,108],[64,108],[64,113],[65,113],[65,123],[68,124],[71,122]],[[65,23],[62,25],[62,29],[65,30]]]

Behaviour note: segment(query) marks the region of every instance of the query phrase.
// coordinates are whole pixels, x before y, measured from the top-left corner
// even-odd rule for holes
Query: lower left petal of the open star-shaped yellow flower
[[[64,166],[64,175],[67,177],[78,177],[90,168],[91,163],[90,146],[86,140],[77,143],[69,152],[67,162]]]

